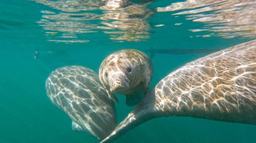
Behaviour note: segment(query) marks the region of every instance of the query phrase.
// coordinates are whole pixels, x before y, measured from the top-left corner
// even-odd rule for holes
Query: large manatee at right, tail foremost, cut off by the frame
[[[256,125],[256,40],[207,55],[173,71],[101,143],[163,116]]]

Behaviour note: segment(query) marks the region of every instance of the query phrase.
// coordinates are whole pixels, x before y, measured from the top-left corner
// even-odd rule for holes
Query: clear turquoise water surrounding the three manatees
[[[155,1],[148,7],[169,5],[168,0]],[[175,18],[172,12],[155,13],[146,19],[150,25],[148,39],[142,41],[115,41],[101,32],[80,33],[79,40],[87,43],[55,43],[58,34],[46,36],[37,23],[42,19],[40,11],[54,11],[47,5],[27,0],[0,1],[0,143],[97,143],[95,137],[85,132],[74,132],[71,120],[48,99],[45,81],[56,68],[81,65],[99,71],[101,61],[112,52],[124,48],[141,51],[172,48],[227,48],[249,41],[249,38],[224,39],[219,36],[196,37],[188,29],[199,29],[203,23]],[[101,11],[95,11],[101,13]],[[95,20],[90,23],[100,23]],[[175,25],[175,23],[182,23]],[[154,25],[164,24],[163,27]],[[53,31],[56,32],[56,31]],[[210,32],[205,31],[204,34]],[[192,36],[193,38],[190,38]],[[255,38],[254,38],[255,39]],[[38,59],[34,51],[39,51]],[[51,51],[49,53],[49,51]],[[150,54],[145,52],[146,54]],[[205,54],[156,54],[152,59],[153,87],[171,71]],[[132,110],[125,105],[124,97],[118,96],[116,104],[118,122]],[[117,139],[117,143],[252,143],[255,142],[255,125],[226,123],[189,117],[157,118],[136,127]]]

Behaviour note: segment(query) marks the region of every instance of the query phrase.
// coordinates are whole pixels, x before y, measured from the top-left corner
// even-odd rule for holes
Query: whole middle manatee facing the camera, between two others
[[[118,103],[114,93],[126,95],[126,104],[137,104],[150,87],[153,64],[150,58],[134,49],[108,55],[102,61],[99,78],[111,99]]]

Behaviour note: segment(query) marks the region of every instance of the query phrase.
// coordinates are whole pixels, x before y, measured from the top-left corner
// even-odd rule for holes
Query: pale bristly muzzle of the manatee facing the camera
[[[115,79],[112,84],[110,84],[110,91],[112,93],[120,93],[129,88],[129,80],[127,78]]]

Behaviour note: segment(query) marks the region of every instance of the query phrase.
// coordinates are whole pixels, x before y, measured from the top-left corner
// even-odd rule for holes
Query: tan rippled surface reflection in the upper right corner
[[[223,38],[256,37],[256,1],[254,0],[186,0],[157,8],[158,12],[177,10],[185,11],[174,15],[187,14],[187,20],[206,24],[202,29],[192,29],[192,32],[207,30],[214,32],[209,36]]]

